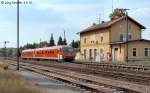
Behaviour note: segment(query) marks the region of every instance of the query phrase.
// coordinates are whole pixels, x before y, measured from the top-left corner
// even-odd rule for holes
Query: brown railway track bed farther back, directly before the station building
[[[78,73],[102,76],[115,80],[124,80],[142,85],[150,85],[150,67],[142,65],[125,64],[96,64],[96,63],[57,63],[47,61],[27,61],[25,63],[67,69]]]

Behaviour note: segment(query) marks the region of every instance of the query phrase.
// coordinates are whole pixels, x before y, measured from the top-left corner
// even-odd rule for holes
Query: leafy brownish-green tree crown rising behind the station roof
[[[114,19],[117,19],[117,18],[120,18],[122,16],[126,16],[126,12],[127,12],[128,9],[125,9],[125,8],[116,8],[110,15],[109,15],[109,18],[111,20],[114,20]]]

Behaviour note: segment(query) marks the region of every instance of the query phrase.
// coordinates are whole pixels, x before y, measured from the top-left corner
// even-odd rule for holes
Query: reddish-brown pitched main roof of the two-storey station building
[[[125,19],[126,16],[123,16],[123,17],[120,17],[118,19],[114,19],[112,21],[108,21],[108,22],[104,22],[102,24],[97,24],[97,25],[93,25],[93,26],[90,26],[84,30],[82,30],[81,32],[79,33],[84,33],[84,32],[89,32],[89,31],[93,31],[93,30],[101,30],[101,29],[106,29],[106,28],[109,28],[111,27],[113,24]],[[131,20],[132,22],[134,22],[136,25],[138,25],[141,29],[146,29],[143,25],[141,25],[140,23],[138,23],[136,20],[134,20],[133,18],[127,16],[127,18],[129,20]]]

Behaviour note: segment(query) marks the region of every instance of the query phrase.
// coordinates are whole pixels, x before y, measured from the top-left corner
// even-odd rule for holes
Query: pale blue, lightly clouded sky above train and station
[[[0,47],[16,47],[17,0],[0,0]],[[48,41],[53,33],[55,43],[66,31],[67,42],[79,40],[77,32],[93,23],[108,21],[112,0],[20,0],[20,46]],[[26,2],[24,4],[23,2]],[[150,0],[113,0],[113,8],[127,8],[129,16],[147,29],[142,37],[150,40]]]

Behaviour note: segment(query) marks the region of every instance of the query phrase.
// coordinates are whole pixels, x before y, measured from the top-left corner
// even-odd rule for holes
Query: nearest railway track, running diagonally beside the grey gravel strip
[[[15,63],[7,63],[16,66]],[[67,83],[72,83],[73,85],[90,90],[92,91],[92,93],[125,93],[124,89],[108,86],[88,79],[86,78],[87,76],[85,74],[70,72],[68,70],[56,69],[53,67],[49,68],[40,65],[37,66],[29,63],[20,63],[20,68],[36,72],[47,77],[53,77],[55,79],[62,80]]]

